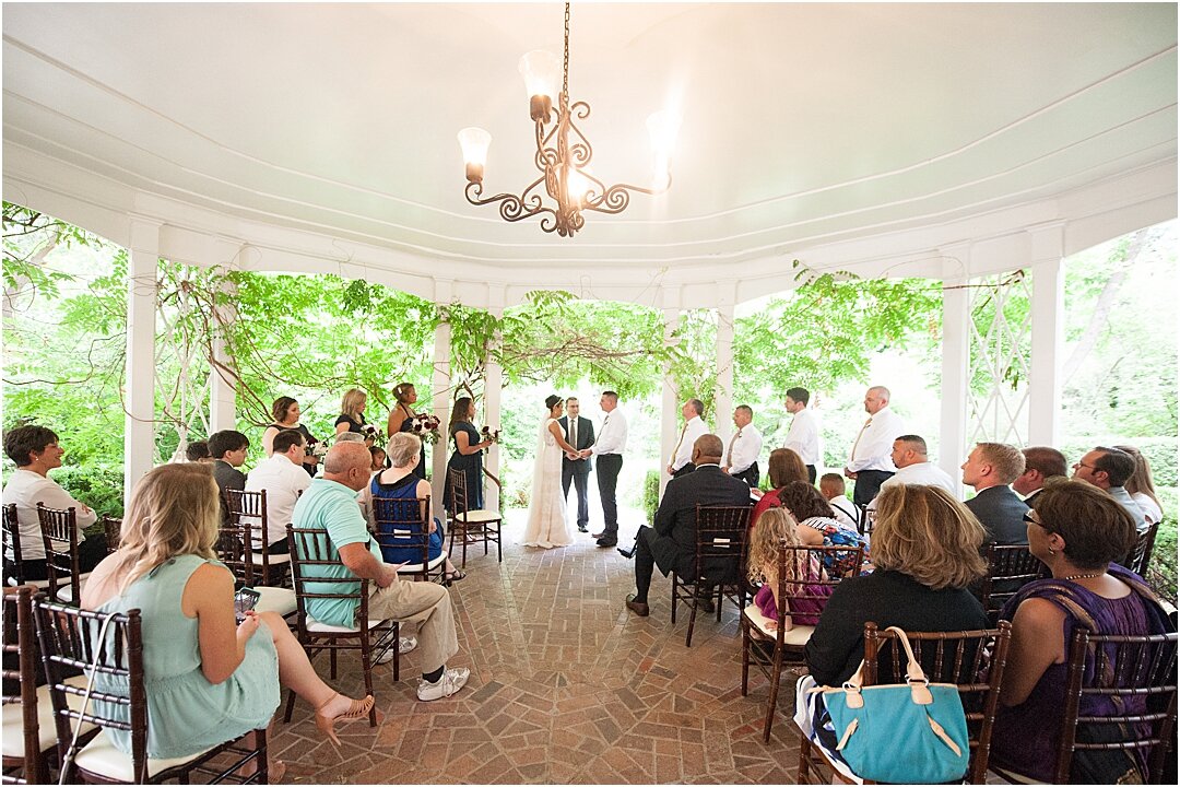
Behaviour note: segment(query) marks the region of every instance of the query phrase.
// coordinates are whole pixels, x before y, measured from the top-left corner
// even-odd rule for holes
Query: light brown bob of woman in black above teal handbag
[[[877,497],[873,565],[931,590],[966,588],[986,573],[984,537],[975,514],[940,487],[898,484]]]

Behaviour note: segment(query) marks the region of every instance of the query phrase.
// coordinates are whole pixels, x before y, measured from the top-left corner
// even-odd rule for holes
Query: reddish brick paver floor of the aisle
[[[629,519],[640,522],[634,513]],[[625,522],[625,519],[624,519]],[[624,527],[623,543],[630,543]],[[393,682],[375,668],[375,729],[341,728],[336,749],[317,733],[312,709],[296,703],[276,723],[271,750],[286,781],[319,783],[791,783],[798,732],[793,690],[784,680],[779,719],[762,742],[767,683],[752,670],[741,696],[738,611],[701,616],[684,647],[687,612],[669,622],[669,581],[656,572],[651,616],[623,602],[632,563],[597,549],[585,533],[573,546],[520,546],[523,512],[505,526],[504,562],[468,552],[467,578],[451,590],[459,624],[452,667],[471,668],[455,696],[418,702],[417,654]],[[494,549],[494,547],[493,547]],[[327,661],[317,660],[322,675]],[[359,694],[359,662],[341,661],[342,691]]]

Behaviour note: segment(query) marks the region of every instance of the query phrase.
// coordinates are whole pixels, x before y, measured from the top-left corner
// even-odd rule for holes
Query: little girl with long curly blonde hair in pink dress
[[[786,509],[768,509],[759,517],[758,526],[750,533],[749,575],[752,583],[765,583],[754,593],[754,605],[766,617],[771,618],[772,630],[778,627],[780,605],[787,612],[784,624],[787,630],[793,625],[815,625],[819,614],[824,611],[826,599],[795,598],[792,593],[806,596],[831,596],[832,585],[808,584],[786,585],[788,597],[779,598],[779,546],[805,546],[799,540],[798,524]],[[824,566],[814,555],[792,552],[787,556],[788,582],[819,582],[827,578]]]

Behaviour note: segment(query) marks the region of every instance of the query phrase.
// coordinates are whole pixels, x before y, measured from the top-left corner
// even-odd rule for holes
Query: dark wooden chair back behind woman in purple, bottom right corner
[[[1175,632],[1100,636],[1082,627],[1074,629],[1055,782],[1071,783],[1075,752],[1106,750],[1112,756],[1132,753],[1128,762],[1135,760],[1134,753],[1142,753],[1145,783],[1165,783],[1165,762],[1175,758],[1168,748],[1175,741],[1176,637]],[[1107,697],[1122,713],[1089,715],[1087,700],[1092,697]]]

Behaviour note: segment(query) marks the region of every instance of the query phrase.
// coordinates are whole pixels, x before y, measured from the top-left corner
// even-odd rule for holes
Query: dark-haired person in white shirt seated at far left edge
[[[17,504],[17,520],[20,523],[20,555],[26,579],[47,579],[45,542],[41,539],[41,518],[37,504],[46,509],[73,509],[78,525],[78,569],[92,570],[106,557],[106,537],[96,533],[88,538],[83,530],[98,520],[90,507],[70,497],[48,473],[61,466],[65,454],[58,446],[58,435],[44,426],[18,426],[4,437],[4,452],[17,465],[4,487],[4,503]],[[5,556],[7,560],[7,556]]]

